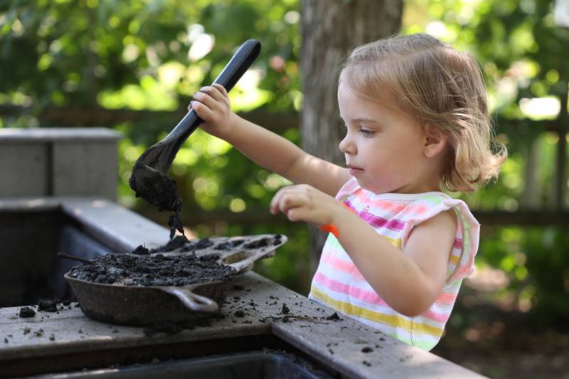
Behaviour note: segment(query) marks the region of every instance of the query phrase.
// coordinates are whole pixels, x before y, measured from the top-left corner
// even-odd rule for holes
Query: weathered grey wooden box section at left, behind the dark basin
[[[107,128],[0,128],[0,198],[117,198],[117,144]]]

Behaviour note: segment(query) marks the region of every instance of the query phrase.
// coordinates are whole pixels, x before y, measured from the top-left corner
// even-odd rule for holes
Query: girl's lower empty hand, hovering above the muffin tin
[[[335,198],[308,184],[281,188],[270,205],[273,215],[282,212],[291,221],[305,221],[317,226],[334,223],[343,209]]]

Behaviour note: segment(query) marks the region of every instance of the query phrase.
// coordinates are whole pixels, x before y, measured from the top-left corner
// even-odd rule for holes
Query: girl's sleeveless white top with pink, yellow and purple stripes
[[[404,316],[385,304],[332,234],[324,244],[312,279],[309,299],[429,351],[442,336],[462,279],[472,273],[479,223],[463,201],[442,192],[374,194],[352,178],[336,198],[401,250],[415,225],[445,210],[457,213],[457,234],[447,265],[447,281],[435,302],[419,316]]]

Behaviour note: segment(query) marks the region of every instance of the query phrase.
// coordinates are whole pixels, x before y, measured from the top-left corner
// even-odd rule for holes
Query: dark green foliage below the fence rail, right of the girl
[[[493,228],[482,238],[477,264],[506,273],[508,287],[491,295],[514,296],[538,326],[563,326],[569,314],[569,235],[563,228]]]

